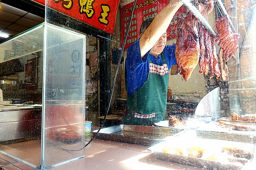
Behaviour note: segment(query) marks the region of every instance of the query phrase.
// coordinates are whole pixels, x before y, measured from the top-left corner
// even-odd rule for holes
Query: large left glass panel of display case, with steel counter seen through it
[[[44,23],[0,44],[0,152],[34,167],[41,160],[43,30]]]

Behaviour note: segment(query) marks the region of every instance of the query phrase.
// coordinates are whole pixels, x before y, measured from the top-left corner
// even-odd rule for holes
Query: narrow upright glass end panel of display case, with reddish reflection
[[[46,23],[42,168],[84,156],[85,36]]]

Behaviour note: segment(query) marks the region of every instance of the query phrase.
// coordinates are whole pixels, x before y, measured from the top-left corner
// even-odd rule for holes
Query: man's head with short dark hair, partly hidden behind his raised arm
[[[153,21],[154,18],[148,18],[146,20],[144,20],[141,24],[141,28],[140,28],[140,37],[144,34],[144,32],[147,30],[147,28],[149,27],[149,25],[151,24],[151,22]],[[166,45],[166,41],[167,41],[167,33],[163,33],[163,35],[157,40],[157,42],[155,43],[155,45],[152,47],[150,53],[154,56],[158,56],[158,54],[160,54],[165,45]]]

